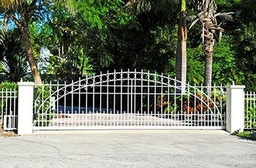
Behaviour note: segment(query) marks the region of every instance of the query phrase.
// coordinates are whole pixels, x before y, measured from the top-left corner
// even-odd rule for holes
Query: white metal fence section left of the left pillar
[[[2,89],[0,91],[0,112],[1,126],[4,131],[17,130],[18,123],[18,92],[12,89]]]

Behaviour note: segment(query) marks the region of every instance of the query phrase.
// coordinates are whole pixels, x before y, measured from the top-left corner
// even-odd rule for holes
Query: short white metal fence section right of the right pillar
[[[244,96],[244,128],[256,129],[256,93],[246,92]]]

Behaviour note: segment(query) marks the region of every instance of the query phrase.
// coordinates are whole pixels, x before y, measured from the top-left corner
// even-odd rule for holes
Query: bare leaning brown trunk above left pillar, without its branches
[[[29,38],[29,24],[26,19],[26,15],[21,14],[21,18],[23,20],[23,26],[20,28],[21,34],[22,34],[22,41],[23,45],[25,47],[26,56],[29,61],[29,66],[31,68],[31,72],[34,78],[34,82],[36,84],[42,84],[41,77],[39,75],[39,71],[37,69],[37,61],[34,58],[34,54],[31,48],[31,42]]]

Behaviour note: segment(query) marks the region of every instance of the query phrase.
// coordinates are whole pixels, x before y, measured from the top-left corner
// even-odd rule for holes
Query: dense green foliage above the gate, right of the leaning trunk
[[[232,21],[222,23],[225,32],[214,47],[212,81],[224,85],[234,81],[255,90],[255,2],[215,1],[217,12],[234,14]],[[42,47],[50,52],[45,58],[48,67],[39,69],[43,80],[77,80],[113,69],[144,69],[175,77],[178,1],[139,1],[136,9],[124,7],[127,0],[73,1],[69,7],[63,1],[55,2],[37,3],[29,20],[35,58],[40,61]],[[197,12],[197,3],[187,1],[187,16]],[[10,20],[9,31],[13,27]],[[205,64],[200,29],[196,24],[187,38],[187,82],[197,85],[204,80]]]

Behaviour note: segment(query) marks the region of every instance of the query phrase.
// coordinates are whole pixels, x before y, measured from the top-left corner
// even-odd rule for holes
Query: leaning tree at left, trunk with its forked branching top
[[[31,42],[29,37],[29,18],[33,12],[33,9],[37,3],[37,0],[29,1],[26,0],[1,0],[0,6],[8,13],[10,18],[14,21],[16,26],[20,29],[21,39],[26,51],[26,57],[29,61],[29,66],[34,78],[34,82],[41,84],[42,80],[37,69],[37,61],[34,58],[34,54],[31,48]],[[13,9],[16,9],[20,13],[21,20],[16,18]]]

